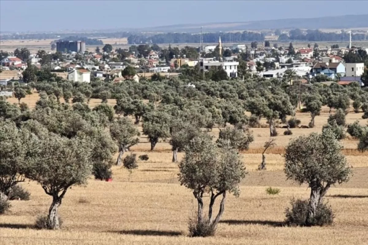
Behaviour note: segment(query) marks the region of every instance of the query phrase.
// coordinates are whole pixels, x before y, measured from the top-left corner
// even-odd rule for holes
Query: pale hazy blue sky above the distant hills
[[[353,6],[353,7],[350,7]],[[368,1],[0,0],[0,32],[103,30],[367,14]]]

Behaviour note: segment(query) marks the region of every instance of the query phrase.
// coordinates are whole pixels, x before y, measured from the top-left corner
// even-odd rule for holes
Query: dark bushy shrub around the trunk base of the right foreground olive
[[[333,222],[332,209],[327,204],[321,203],[317,207],[316,215],[313,219],[308,220],[309,201],[308,200],[291,200],[291,210],[286,208],[286,224],[290,226],[324,226],[331,225]]]

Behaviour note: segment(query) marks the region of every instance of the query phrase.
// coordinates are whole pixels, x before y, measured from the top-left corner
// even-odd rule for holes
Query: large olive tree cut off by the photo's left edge
[[[0,199],[7,200],[12,187],[24,182],[29,170],[35,136],[11,121],[0,121]]]

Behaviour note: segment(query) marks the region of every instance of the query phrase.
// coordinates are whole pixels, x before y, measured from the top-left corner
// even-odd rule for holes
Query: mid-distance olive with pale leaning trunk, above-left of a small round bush
[[[119,148],[116,165],[120,166],[124,152],[139,142],[139,131],[129,118],[122,117],[110,125],[110,134]]]

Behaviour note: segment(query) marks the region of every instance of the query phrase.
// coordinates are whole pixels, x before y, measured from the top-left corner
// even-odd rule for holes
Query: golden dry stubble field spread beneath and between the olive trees
[[[34,93],[21,102],[34,107],[36,100],[38,94]],[[14,98],[8,101],[17,102]],[[114,102],[109,100],[110,105]],[[91,99],[90,106],[99,103],[100,100]],[[284,136],[285,129],[278,128],[277,146],[266,154],[267,170],[262,172],[256,169],[262,161],[261,148],[269,139],[269,130],[252,128],[255,141],[250,150],[241,153],[248,174],[241,183],[240,197],[228,195],[215,237],[188,237],[188,219],[195,213],[197,202],[190,190],[178,183],[178,168],[171,162],[170,145],[159,142],[151,152],[148,139],[141,135],[139,144],[131,150],[137,156],[148,154],[149,160],[138,160],[139,167],[131,176],[124,168],[114,166],[113,182],[91,177],[87,186],[68,190],[59,208],[64,221],[60,231],[32,228],[36,217],[47,213],[52,198],[35,182],[22,183],[31,192],[31,200],[11,201],[11,211],[0,216],[0,244],[367,244],[368,152],[356,151],[357,141],[352,139],[343,140],[343,145],[353,176],[348,183],[332,187],[326,197],[336,215],[334,224],[300,228],[284,227],[282,223],[290,199],[307,199],[310,191],[306,185],[286,181],[282,171],[284,147],[290,138],[321,131],[328,115],[328,108],[323,108],[316,117],[315,128],[292,129],[292,136]],[[310,120],[308,113],[297,113],[296,117],[303,125]],[[367,124],[361,113],[347,115],[347,123],[357,119],[362,125]],[[216,138],[218,132],[214,128],[210,133]],[[183,153],[179,153],[179,160],[182,157]],[[281,192],[270,196],[265,191],[269,186],[278,187]]]

